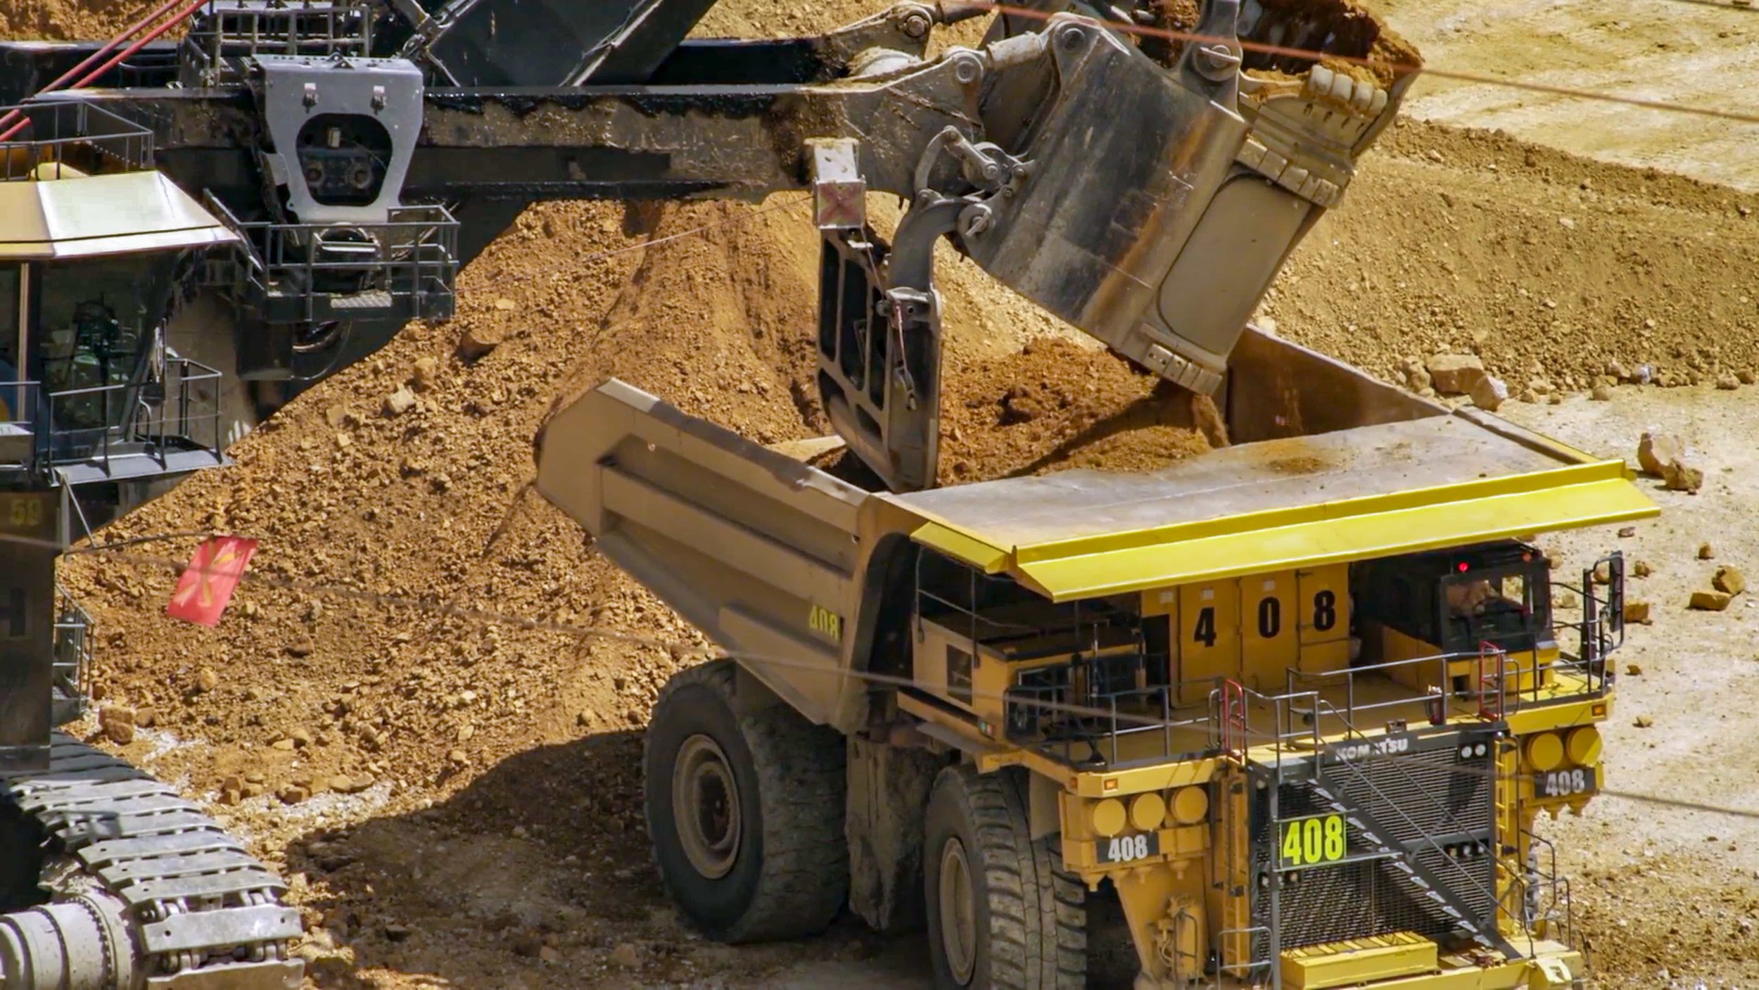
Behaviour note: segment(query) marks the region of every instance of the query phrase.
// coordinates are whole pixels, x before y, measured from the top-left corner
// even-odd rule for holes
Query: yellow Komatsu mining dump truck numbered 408
[[[1602,784],[1624,568],[1536,538],[1655,506],[1256,331],[1223,410],[1154,473],[894,494],[621,382],[563,406],[538,489],[728,654],[647,732],[682,913],[927,927],[938,986],[1080,986],[1119,906],[1138,988],[1578,985],[1534,821]]]

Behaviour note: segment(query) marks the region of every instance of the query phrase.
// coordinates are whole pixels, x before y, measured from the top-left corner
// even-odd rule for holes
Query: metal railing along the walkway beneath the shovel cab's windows
[[[167,357],[157,382],[60,390],[42,382],[0,383],[0,471],[88,464],[111,473],[118,457],[146,457],[172,471],[167,457],[176,452],[204,452],[218,464],[222,378],[199,360]]]

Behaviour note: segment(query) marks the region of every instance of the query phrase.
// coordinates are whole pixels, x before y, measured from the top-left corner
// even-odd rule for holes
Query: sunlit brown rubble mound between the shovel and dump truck
[[[106,630],[109,702],[248,746],[241,756],[269,790],[296,772],[426,786],[529,742],[533,726],[494,712],[536,703],[566,702],[566,717],[589,714],[582,728],[630,724],[640,691],[626,677],[577,677],[579,647],[565,637],[385,601],[691,638],[526,491],[531,436],[559,390],[612,375],[762,441],[820,431],[797,332],[813,318],[814,258],[786,209],[677,209],[649,236],[712,227],[607,253],[623,246],[623,223],[605,206],[533,211],[464,274],[454,325],[410,327],[239,443],[234,468],[106,531],[260,538],[252,571],[280,587],[246,586],[218,630],[164,619],[165,570],[69,561],[63,580]],[[466,364],[454,353],[464,332],[503,343]],[[399,389],[413,394],[401,413],[387,401]],[[338,598],[332,586],[383,600]],[[211,691],[195,688],[204,666],[220,673]],[[310,744],[273,747],[301,728]]]

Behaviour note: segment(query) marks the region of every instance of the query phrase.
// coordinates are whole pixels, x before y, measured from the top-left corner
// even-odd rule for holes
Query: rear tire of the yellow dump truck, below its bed
[[[642,744],[647,835],[684,916],[723,943],[825,930],[848,897],[844,742],[793,709],[739,716],[737,670],[674,675]]]

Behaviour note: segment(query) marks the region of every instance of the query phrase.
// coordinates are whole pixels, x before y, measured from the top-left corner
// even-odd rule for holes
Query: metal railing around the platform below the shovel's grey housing
[[[385,222],[239,220],[211,192],[202,204],[243,239],[209,258],[209,285],[274,324],[318,324],[347,311],[450,318],[457,220],[443,206],[405,206]]]

